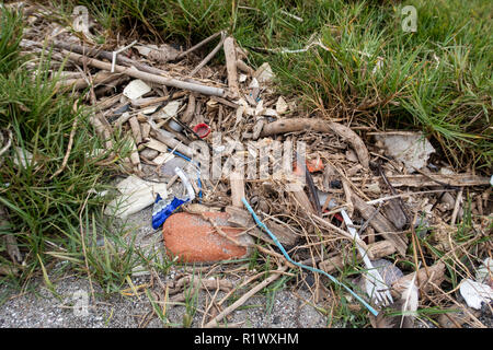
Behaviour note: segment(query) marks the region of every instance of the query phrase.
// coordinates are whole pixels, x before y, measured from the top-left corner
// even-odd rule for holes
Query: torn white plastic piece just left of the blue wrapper
[[[107,205],[104,213],[121,219],[151,206],[158,194],[168,197],[167,184],[146,182],[134,175],[119,182],[116,188],[121,195]]]

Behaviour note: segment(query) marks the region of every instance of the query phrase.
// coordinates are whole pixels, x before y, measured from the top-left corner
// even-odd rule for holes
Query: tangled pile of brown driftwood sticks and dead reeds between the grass
[[[477,281],[475,271],[485,258],[491,258],[490,178],[468,170],[451,172],[440,161],[427,164],[426,155],[421,159],[425,166],[414,167],[412,160],[392,155],[382,144],[387,136],[399,132],[378,132],[377,137],[356,132],[358,126],[348,126],[347,120],[334,121],[326,115],[308,117],[299,101],[276,92],[268,65],[256,70],[249,67],[249,54],[226,32],[186,50],[127,43],[123,37],[115,47],[102,48],[90,37],[88,27],[64,27],[49,21],[46,10],[37,7],[24,11],[30,13],[30,26],[21,42],[24,54],[51,50],[50,63],[54,77],[59,78],[59,91],[71,91],[92,108],[91,124],[111,154],[100,162],[101,166],[164,182],[168,189],[173,184],[180,186],[176,176],[161,172],[176,152],[193,158],[193,141],[205,140],[213,147],[210,137],[203,139],[194,131],[200,124],[221,132],[223,139],[243,144],[259,140],[265,148],[277,141],[302,141],[307,145],[307,185],[297,190],[288,190],[287,179],[276,174],[206,178],[200,184],[192,180],[195,195],[200,194],[200,205],[190,203],[182,209],[196,215],[204,215],[198,213],[200,210],[213,211],[213,207],[227,212],[225,225],[207,219],[217,234],[245,245],[222,232],[228,225],[241,228],[255,242],[248,246],[255,252],[256,264],[265,266],[268,261],[271,267],[252,272],[244,265],[215,264],[203,268],[200,279],[185,273],[171,284],[162,283],[151,270],[149,285],[161,290],[152,292],[152,300],[162,315],[167,307],[185,302],[187,293],[204,290],[208,298],[200,310],[200,326],[220,326],[249,298],[280,276],[296,276],[290,287],[308,288],[311,302],[328,315],[335,316],[342,299],[346,303],[351,300],[352,312],[366,313],[323,275],[313,272],[314,278],[308,281],[305,269],[287,260],[272,236],[255,223],[243,206],[245,198],[294,261],[351,283],[379,311],[378,316],[370,315],[374,327],[415,327],[425,318],[443,327],[484,327],[479,317],[481,313],[491,314],[491,303],[486,302],[482,310],[468,307],[459,291],[461,281]],[[213,40],[218,43],[213,51],[200,50],[203,44]],[[209,66],[220,49],[226,65]],[[72,130],[77,132],[77,119]],[[117,136],[129,142],[128,158],[121,159],[114,149]],[[378,142],[379,137],[383,141]],[[70,142],[67,158],[69,153]],[[275,155],[268,156],[273,164],[280,163]],[[296,168],[305,170],[305,164],[294,162]],[[65,166],[67,162],[53,176],[64,172]],[[351,224],[345,217],[352,218]],[[363,256],[358,250],[364,252]],[[14,250],[9,254],[16,256]],[[362,264],[365,258],[375,267]],[[218,270],[222,278],[209,278]],[[371,270],[378,271],[385,290],[368,289]],[[240,276],[242,282],[233,285],[228,276]],[[481,283],[491,288],[491,281],[490,272],[490,280]],[[126,293],[131,295],[146,289],[130,287]],[[240,290],[244,291],[241,296],[228,305],[228,296]],[[218,300],[218,291],[227,295]],[[383,292],[392,298],[382,303],[375,298]],[[491,301],[489,295],[484,298]],[[461,316],[427,313],[450,307],[460,310]]]

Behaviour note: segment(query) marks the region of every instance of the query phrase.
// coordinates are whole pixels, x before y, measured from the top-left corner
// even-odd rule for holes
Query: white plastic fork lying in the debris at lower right
[[[363,262],[365,262],[365,267],[367,268],[367,272],[365,276],[365,287],[366,293],[371,300],[375,300],[377,305],[388,306],[393,303],[392,295],[390,294],[389,288],[383,283],[383,279],[378,272],[378,270],[374,267],[366,250],[357,243],[357,240],[360,240],[356,229],[353,228],[353,221],[345,210],[341,210],[341,214],[344,219],[344,223],[346,224],[347,230],[355,240],[356,247],[358,248],[359,254],[363,257]]]

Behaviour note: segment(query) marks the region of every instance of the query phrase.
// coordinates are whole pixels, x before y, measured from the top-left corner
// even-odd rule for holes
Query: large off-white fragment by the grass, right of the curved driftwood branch
[[[386,154],[402,162],[409,173],[426,166],[429,154],[435,152],[422,132],[385,132],[376,135],[383,143]]]

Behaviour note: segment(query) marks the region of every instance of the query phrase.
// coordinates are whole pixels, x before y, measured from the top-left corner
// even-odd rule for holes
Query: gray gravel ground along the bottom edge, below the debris
[[[154,232],[150,226],[152,208],[147,208],[131,217],[128,224],[136,234],[136,245],[142,249],[152,246],[161,247],[162,242],[160,232]],[[58,265],[61,267],[61,264]],[[69,272],[64,272],[65,275]],[[173,278],[176,270],[173,268],[168,276],[161,276],[162,280]],[[162,327],[161,320],[153,316],[149,322],[152,306],[145,294],[140,298],[123,296],[113,294],[110,298],[104,296],[103,290],[94,284],[95,301],[90,299],[90,283],[84,277],[73,275],[61,276],[57,268],[50,272],[50,281],[55,285],[58,298],[55,296],[44,285],[43,279],[34,280],[34,291],[20,294],[19,291],[9,290],[7,285],[0,285],[0,295],[9,295],[7,301],[0,305],[0,327],[139,327],[145,324],[146,327]],[[149,276],[133,277],[135,285],[149,281]],[[158,288],[154,292],[162,293]],[[308,292],[297,291],[297,294],[305,300],[310,300]],[[82,295],[82,299],[78,296]],[[88,313],[83,314],[74,305],[81,305],[83,295],[88,295]],[[223,293],[218,293],[218,299]],[[197,307],[203,310],[205,303],[205,292],[198,295]],[[298,296],[287,290],[278,291],[274,301],[268,307],[265,296],[255,295],[251,298],[243,308],[231,314],[229,323],[242,323],[242,327],[325,327],[326,319],[316,308],[306,305]],[[185,307],[177,305],[171,307],[168,313],[169,322],[174,326],[183,325],[183,315]],[[148,315],[144,322],[144,317]],[[196,312],[192,327],[200,327],[203,314]]]

